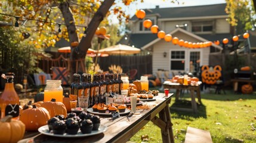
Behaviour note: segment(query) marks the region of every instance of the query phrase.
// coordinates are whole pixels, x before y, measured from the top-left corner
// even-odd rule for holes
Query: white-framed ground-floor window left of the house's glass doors
[[[171,70],[184,70],[185,51],[171,51]]]

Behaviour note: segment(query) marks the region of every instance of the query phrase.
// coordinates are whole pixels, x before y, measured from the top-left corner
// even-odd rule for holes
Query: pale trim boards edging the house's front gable
[[[173,30],[172,32],[170,32],[169,34],[174,35],[174,33],[177,33],[177,32],[182,32],[182,33],[184,33],[184,35],[192,36],[193,38],[198,39],[198,41],[200,41],[200,42],[206,42],[206,41],[208,41],[208,40],[206,40],[206,39],[204,39],[204,38],[202,38],[202,37],[200,37],[200,36],[198,36],[198,35],[195,35],[195,34],[193,34],[193,33],[190,33],[190,32],[188,32],[187,30],[181,29],[181,28],[179,28],[179,27],[176,28],[176,29],[174,29],[174,30]],[[144,39],[146,39],[146,37],[145,37]],[[161,40],[162,40],[162,39],[157,38],[157,39],[155,39],[154,41],[151,41],[151,42],[147,43],[147,45],[144,45],[143,47],[141,47],[141,49],[147,49],[147,48],[149,48],[151,45],[153,45],[154,43],[159,42],[159,41],[161,41]],[[215,48],[218,48],[218,49],[220,49],[220,50],[223,49],[221,46],[215,45],[214,43],[212,43],[212,46],[215,47]]]

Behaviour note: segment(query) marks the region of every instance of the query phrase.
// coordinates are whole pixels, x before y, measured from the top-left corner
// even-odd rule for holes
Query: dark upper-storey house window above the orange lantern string
[[[192,32],[212,32],[212,21],[192,22]]]

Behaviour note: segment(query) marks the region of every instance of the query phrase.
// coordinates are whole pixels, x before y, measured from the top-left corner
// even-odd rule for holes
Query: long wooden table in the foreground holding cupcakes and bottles
[[[97,135],[81,138],[60,138],[39,132],[26,132],[24,139],[19,142],[127,142],[150,120],[161,128],[162,142],[174,142],[169,111],[172,95],[168,94],[168,97],[165,98],[165,94],[159,93],[158,96],[155,96],[156,101],[143,103],[151,107],[150,109],[138,110],[140,114],[134,114],[129,120],[127,115],[115,120],[109,120],[109,116],[101,116],[101,125],[107,126],[107,130]],[[156,116],[157,114],[159,116]]]

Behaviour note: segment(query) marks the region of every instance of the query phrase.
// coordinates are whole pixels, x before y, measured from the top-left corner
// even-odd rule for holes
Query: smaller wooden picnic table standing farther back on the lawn
[[[201,93],[200,93],[200,82],[197,85],[183,85],[183,84],[180,84],[180,83],[173,83],[173,82],[170,82],[170,81],[165,81],[163,83],[163,85],[164,85],[164,88],[176,89],[175,101],[179,100],[181,90],[185,90],[185,89],[189,90],[190,91],[190,97],[191,97],[192,111],[193,111],[193,113],[198,113],[198,107],[197,107],[197,104],[196,104],[196,99],[195,99],[196,97],[195,97],[194,93],[196,91],[196,95],[198,97],[198,102],[200,104],[202,104]],[[190,110],[190,109],[187,109],[187,108],[177,108],[177,109],[178,110]]]

